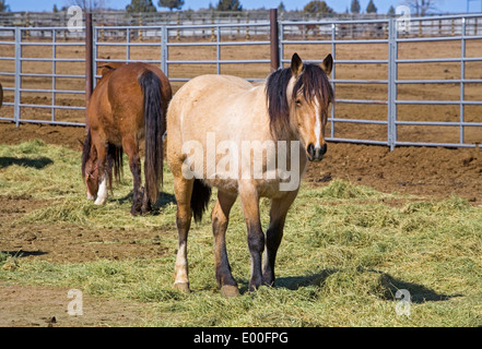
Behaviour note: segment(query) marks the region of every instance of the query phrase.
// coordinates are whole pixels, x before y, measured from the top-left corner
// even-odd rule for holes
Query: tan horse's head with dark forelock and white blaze
[[[278,139],[294,134],[310,161],[321,160],[327,152],[325,127],[334,100],[328,80],[332,65],[331,55],[318,65],[303,64],[294,53],[291,67],[274,72],[267,82],[271,133]]]

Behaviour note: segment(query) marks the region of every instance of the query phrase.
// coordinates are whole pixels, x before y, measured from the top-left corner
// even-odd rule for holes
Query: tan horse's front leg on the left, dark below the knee
[[[264,234],[259,219],[259,196],[252,184],[239,185],[239,197],[248,229],[248,248],[251,255],[251,278],[249,290],[254,291],[261,286],[261,255],[264,250]]]

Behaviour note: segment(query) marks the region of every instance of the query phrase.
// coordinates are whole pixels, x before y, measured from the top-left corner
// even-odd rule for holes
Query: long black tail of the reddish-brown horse
[[[158,185],[163,180],[163,125],[164,111],[161,98],[161,80],[150,70],[145,70],[138,79],[144,94],[144,190],[151,203],[157,201]]]

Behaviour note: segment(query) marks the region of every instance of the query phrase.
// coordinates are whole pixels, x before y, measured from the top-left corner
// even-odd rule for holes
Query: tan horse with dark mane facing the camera
[[[327,152],[325,125],[333,100],[327,74],[332,63],[328,55],[321,67],[304,64],[295,53],[291,68],[275,71],[259,85],[235,76],[202,75],[176,93],[167,111],[167,158],[177,201],[175,288],[189,291],[187,236],[192,215],[202,218],[212,186],[218,188],[211,218],[221,292],[238,294],[225,244],[230,210],[238,195],[251,256],[249,290],[274,284],[274,260],[299,178],[307,160],[321,160]],[[261,196],[271,198],[266,238]]]

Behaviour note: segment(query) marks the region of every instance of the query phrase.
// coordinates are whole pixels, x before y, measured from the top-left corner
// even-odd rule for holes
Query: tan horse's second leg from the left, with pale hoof
[[[236,201],[236,195],[231,195],[222,191],[218,192],[218,202],[212,210],[212,232],[214,236],[214,265],[216,280],[221,287],[221,293],[226,297],[239,296],[237,282],[231,274],[230,262],[226,253],[226,229],[228,224],[230,210]]]

